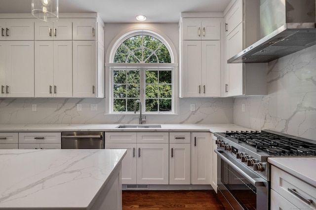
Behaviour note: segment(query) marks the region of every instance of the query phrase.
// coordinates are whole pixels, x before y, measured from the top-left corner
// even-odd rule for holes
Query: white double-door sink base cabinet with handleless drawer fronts
[[[106,132],[105,148],[127,149],[122,184],[169,183],[168,133]]]

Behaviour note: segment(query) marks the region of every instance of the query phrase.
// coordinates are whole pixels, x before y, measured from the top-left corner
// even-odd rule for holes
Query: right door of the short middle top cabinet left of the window
[[[72,21],[68,19],[59,19],[54,22],[53,38],[54,40],[72,40]]]

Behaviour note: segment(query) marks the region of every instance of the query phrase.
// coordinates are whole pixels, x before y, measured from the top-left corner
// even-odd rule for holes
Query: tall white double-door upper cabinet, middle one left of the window
[[[72,97],[72,41],[35,41],[35,97]]]

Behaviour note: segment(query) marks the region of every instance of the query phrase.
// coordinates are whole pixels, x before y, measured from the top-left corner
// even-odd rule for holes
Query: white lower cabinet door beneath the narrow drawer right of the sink
[[[190,184],[190,143],[169,144],[169,184]]]

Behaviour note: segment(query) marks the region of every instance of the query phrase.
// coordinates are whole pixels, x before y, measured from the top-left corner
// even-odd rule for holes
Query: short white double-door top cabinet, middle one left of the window
[[[53,23],[36,20],[35,40],[72,40],[72,20],[60,18]]]

